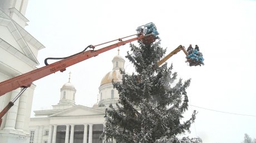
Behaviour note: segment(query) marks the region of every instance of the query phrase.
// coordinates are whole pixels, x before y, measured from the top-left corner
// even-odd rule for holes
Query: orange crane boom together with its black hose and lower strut
[[[137,35],[138,37],[127,39],[124,41],[122,39],[127,38],[127,37],[119,38],[119,39],[116,39],[116,40],[119,40],[118,43],[109,45],[109,46],[101,48],[99,50],[94,50],[94,48],[98,45],[95,45],[95,46],[89,45],[87,48],[92,48],[93,50],[86,50],[87,49],[86,48],[82,52],[71,55],[70,57],[66,57],[66,58],[47,58],[47,59],[62,59],[62,60],[52,63],[52,64],[48,64],[47,59],[46,59],[45,67],[38,68],[36,70],[32,70],[31,72],[28,72],[28,73],[25,73],[25,74],[22,74],[22,75],[19,75],[14,78],[11,78],[11,79],[1,82],[0,83],[0,96],[8,93],[9,91],[17,89],[17,88],[23,88],[23,89],[12,101],[9,101],[9,103],[6,105],[6,107],[1,111],[0,126],[2,124],[2,117],[14,105],[14,102],[19,98],[19,96],[21,96],[21,94],[24,92],[24,90],[26,90],[29,86],[31,86],[33,81],[41,79],[47,75],[56,73],[58,71],[63,72],[66,70],[67,67],[70,67],[71,65],[80,63],[83,60],[95,57],[101,53],[108,51],[108,50],[114,49],[116,47],[120,47],[121,45],[125,45],[126,43],[130,43],[135,40],[141,40],[142,43],[150,44],[152,42],[155,42],[155,40],[156,40],[156,37],[151,33],[144,35],[143,32],[141,32],[141,33],[134,34],[134,35]],[[134,35],[130,35],[128,37],[131,37]],[[112,40],[110,42],[114,42],[116,40]],[[106,42],[106,43],[110,43],[110,42]],[[102,44],[106,44],[106,43],[102,43]],[[102,44],[99,44],[99,45],[102,45]]]

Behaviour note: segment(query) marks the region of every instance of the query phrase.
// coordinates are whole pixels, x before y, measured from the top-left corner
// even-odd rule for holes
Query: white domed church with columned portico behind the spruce
[[[34,111],[35,118],[29,124],[29,143],[98,143],[105,124],[105,110],[115,105],[119,94],[112,80],[122,79],[120,68],[124,69],[125,60],[120,55],[112,59],[112,71],[102,78],[100,100],[93,107],[76,105],[76,88],[70,79],[60,89],[60,101],[51,110]]]

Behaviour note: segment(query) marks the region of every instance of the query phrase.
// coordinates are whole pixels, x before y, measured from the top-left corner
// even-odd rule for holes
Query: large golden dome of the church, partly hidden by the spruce
[[[105,83],[111,83],[112,80],[114,81],[122,81],[122,75],[120,70],[112,70],[111,72],[107,73],[104,78],[101,80],[100,85]]]

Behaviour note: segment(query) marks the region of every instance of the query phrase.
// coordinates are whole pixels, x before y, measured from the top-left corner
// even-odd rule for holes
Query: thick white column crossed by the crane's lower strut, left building
[[[13,90],[10,101],[12,101],[19,94],[20,91],[21,91],[20,88]],[[9,109],[9,111],[7,112],[6,125],[4,126],[3,130],[15,130],[14,127],[16,124],[18,105],[19,105],[19,98],[15,101],[12,108]]]

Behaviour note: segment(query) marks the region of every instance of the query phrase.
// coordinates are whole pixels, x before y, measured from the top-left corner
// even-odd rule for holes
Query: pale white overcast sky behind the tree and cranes
[[[189,67],[182,52],[167,61],[180,78],[192,79],[188,96],[194,106],[185,117],[192,110],[198,114],[190,136],[214,143],[240,143],[245,133],[256,138],[256,1],[29,1],[26,17],[26,30],[46,47],[38,53],[38,67],[44,66],[45,58],[67,57],[87,45],[135,34],[138,26],[149,22],[155,23],[166,54],[180,44],[199,45],[204,66]],[[120,47],[120,55],[125,57],[128,50],[129,44]],[[113,49],[35,81],[32,110],[58,103],[69,72],[76,104],[91,107],[116,54]],[[132,72],[127,59],[125,67]]]

